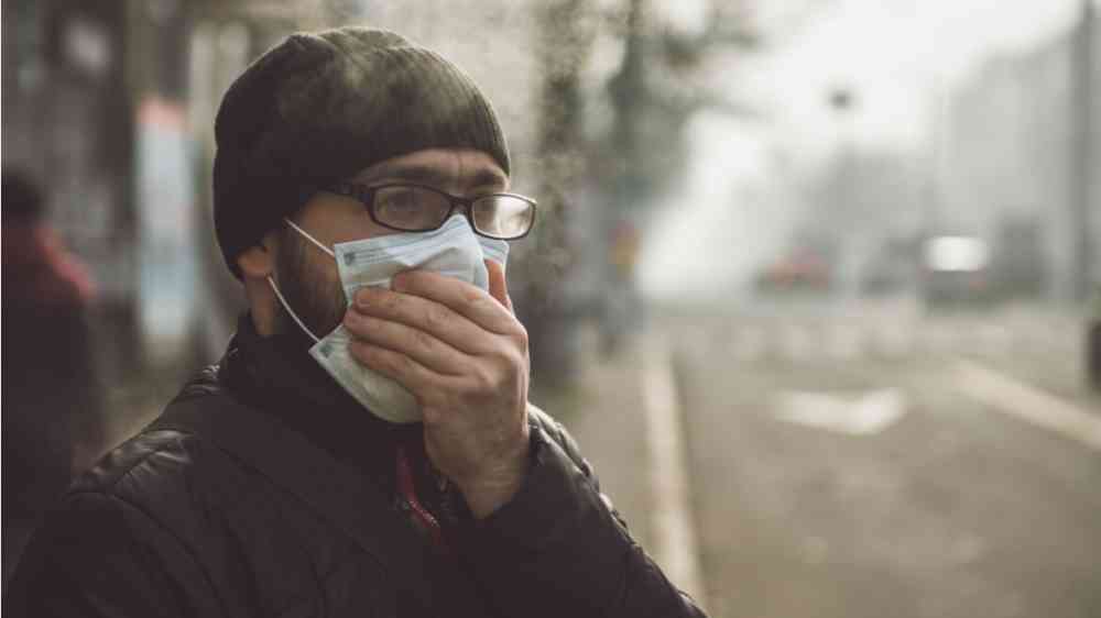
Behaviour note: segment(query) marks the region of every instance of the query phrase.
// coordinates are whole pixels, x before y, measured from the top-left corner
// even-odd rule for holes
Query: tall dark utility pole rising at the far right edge
[[[1095,195],[1093,174],[1098,172],[1094,148],[1095,104],[1093,92],[1095,9],[1093,0],[1082,0],[1081,21],[1075,33],[1071,63],[1071,131],[1070,131],[1070,217],[1071,273],[1070,298],[1086,298],[1090,286],[1092,264],[1092,221]],[[1095,216],[1095,213],[1094,213]]]

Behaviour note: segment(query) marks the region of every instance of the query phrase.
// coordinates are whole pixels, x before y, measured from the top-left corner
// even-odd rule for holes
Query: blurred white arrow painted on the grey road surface
[[[780,394],[776,418],[850,435],[879,433],[906,413],[906,398],[897,388],[839,395],[787,391]]]

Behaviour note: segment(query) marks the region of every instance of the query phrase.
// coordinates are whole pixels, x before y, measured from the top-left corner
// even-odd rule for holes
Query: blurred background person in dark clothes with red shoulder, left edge
[[[92,287],[45,222],[43,196],[3,169],[3,581],[102,438],[87,320]]]

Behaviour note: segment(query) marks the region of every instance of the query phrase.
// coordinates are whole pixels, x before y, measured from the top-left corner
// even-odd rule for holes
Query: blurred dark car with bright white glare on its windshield
[[[990,246],[975,236],[928,239],[922,275],[922,296],[931,308],[968,307],[994,298]]]

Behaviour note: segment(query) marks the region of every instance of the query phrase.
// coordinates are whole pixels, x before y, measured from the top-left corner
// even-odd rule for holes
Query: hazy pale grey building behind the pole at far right
[[[1079,268],[1101,278],[1095,12],[1092,22],[1028,53],[986,63],[951,95],[942,128],[938,225],[980,234],[993,241],[995,252],[1010,254],[1031,250],[1000,247],[999,239],[1028,238],[1025,244],[1040,247],[1037,258],[1049,274],[1043,293],[1058,299],[1081,293],[1076,289]],[[1083,45],[1083,36],[1089,44]],[[1092,57],[1083,58],[1083,51]],[[1094,247],[1084,265],[1076,251],[1083,236]],[[1010,260],[1028,262],[1016,255]]]

